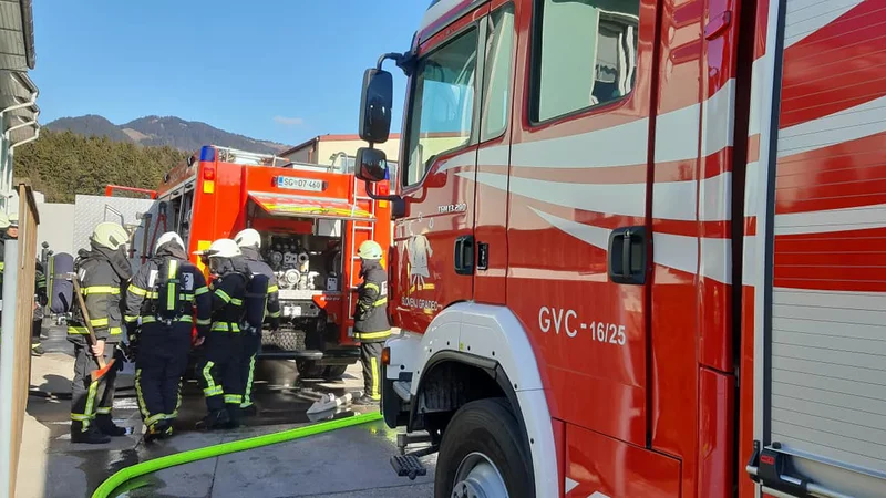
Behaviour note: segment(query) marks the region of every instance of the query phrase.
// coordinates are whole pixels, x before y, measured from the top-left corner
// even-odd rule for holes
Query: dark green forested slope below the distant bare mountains
[[[73,203],[76,194],[103,195],[107,184],[156,189],[187,155],[169,146],[43,129],[39,139],[16,148],[14,183],[42,191],[48,203]]]

